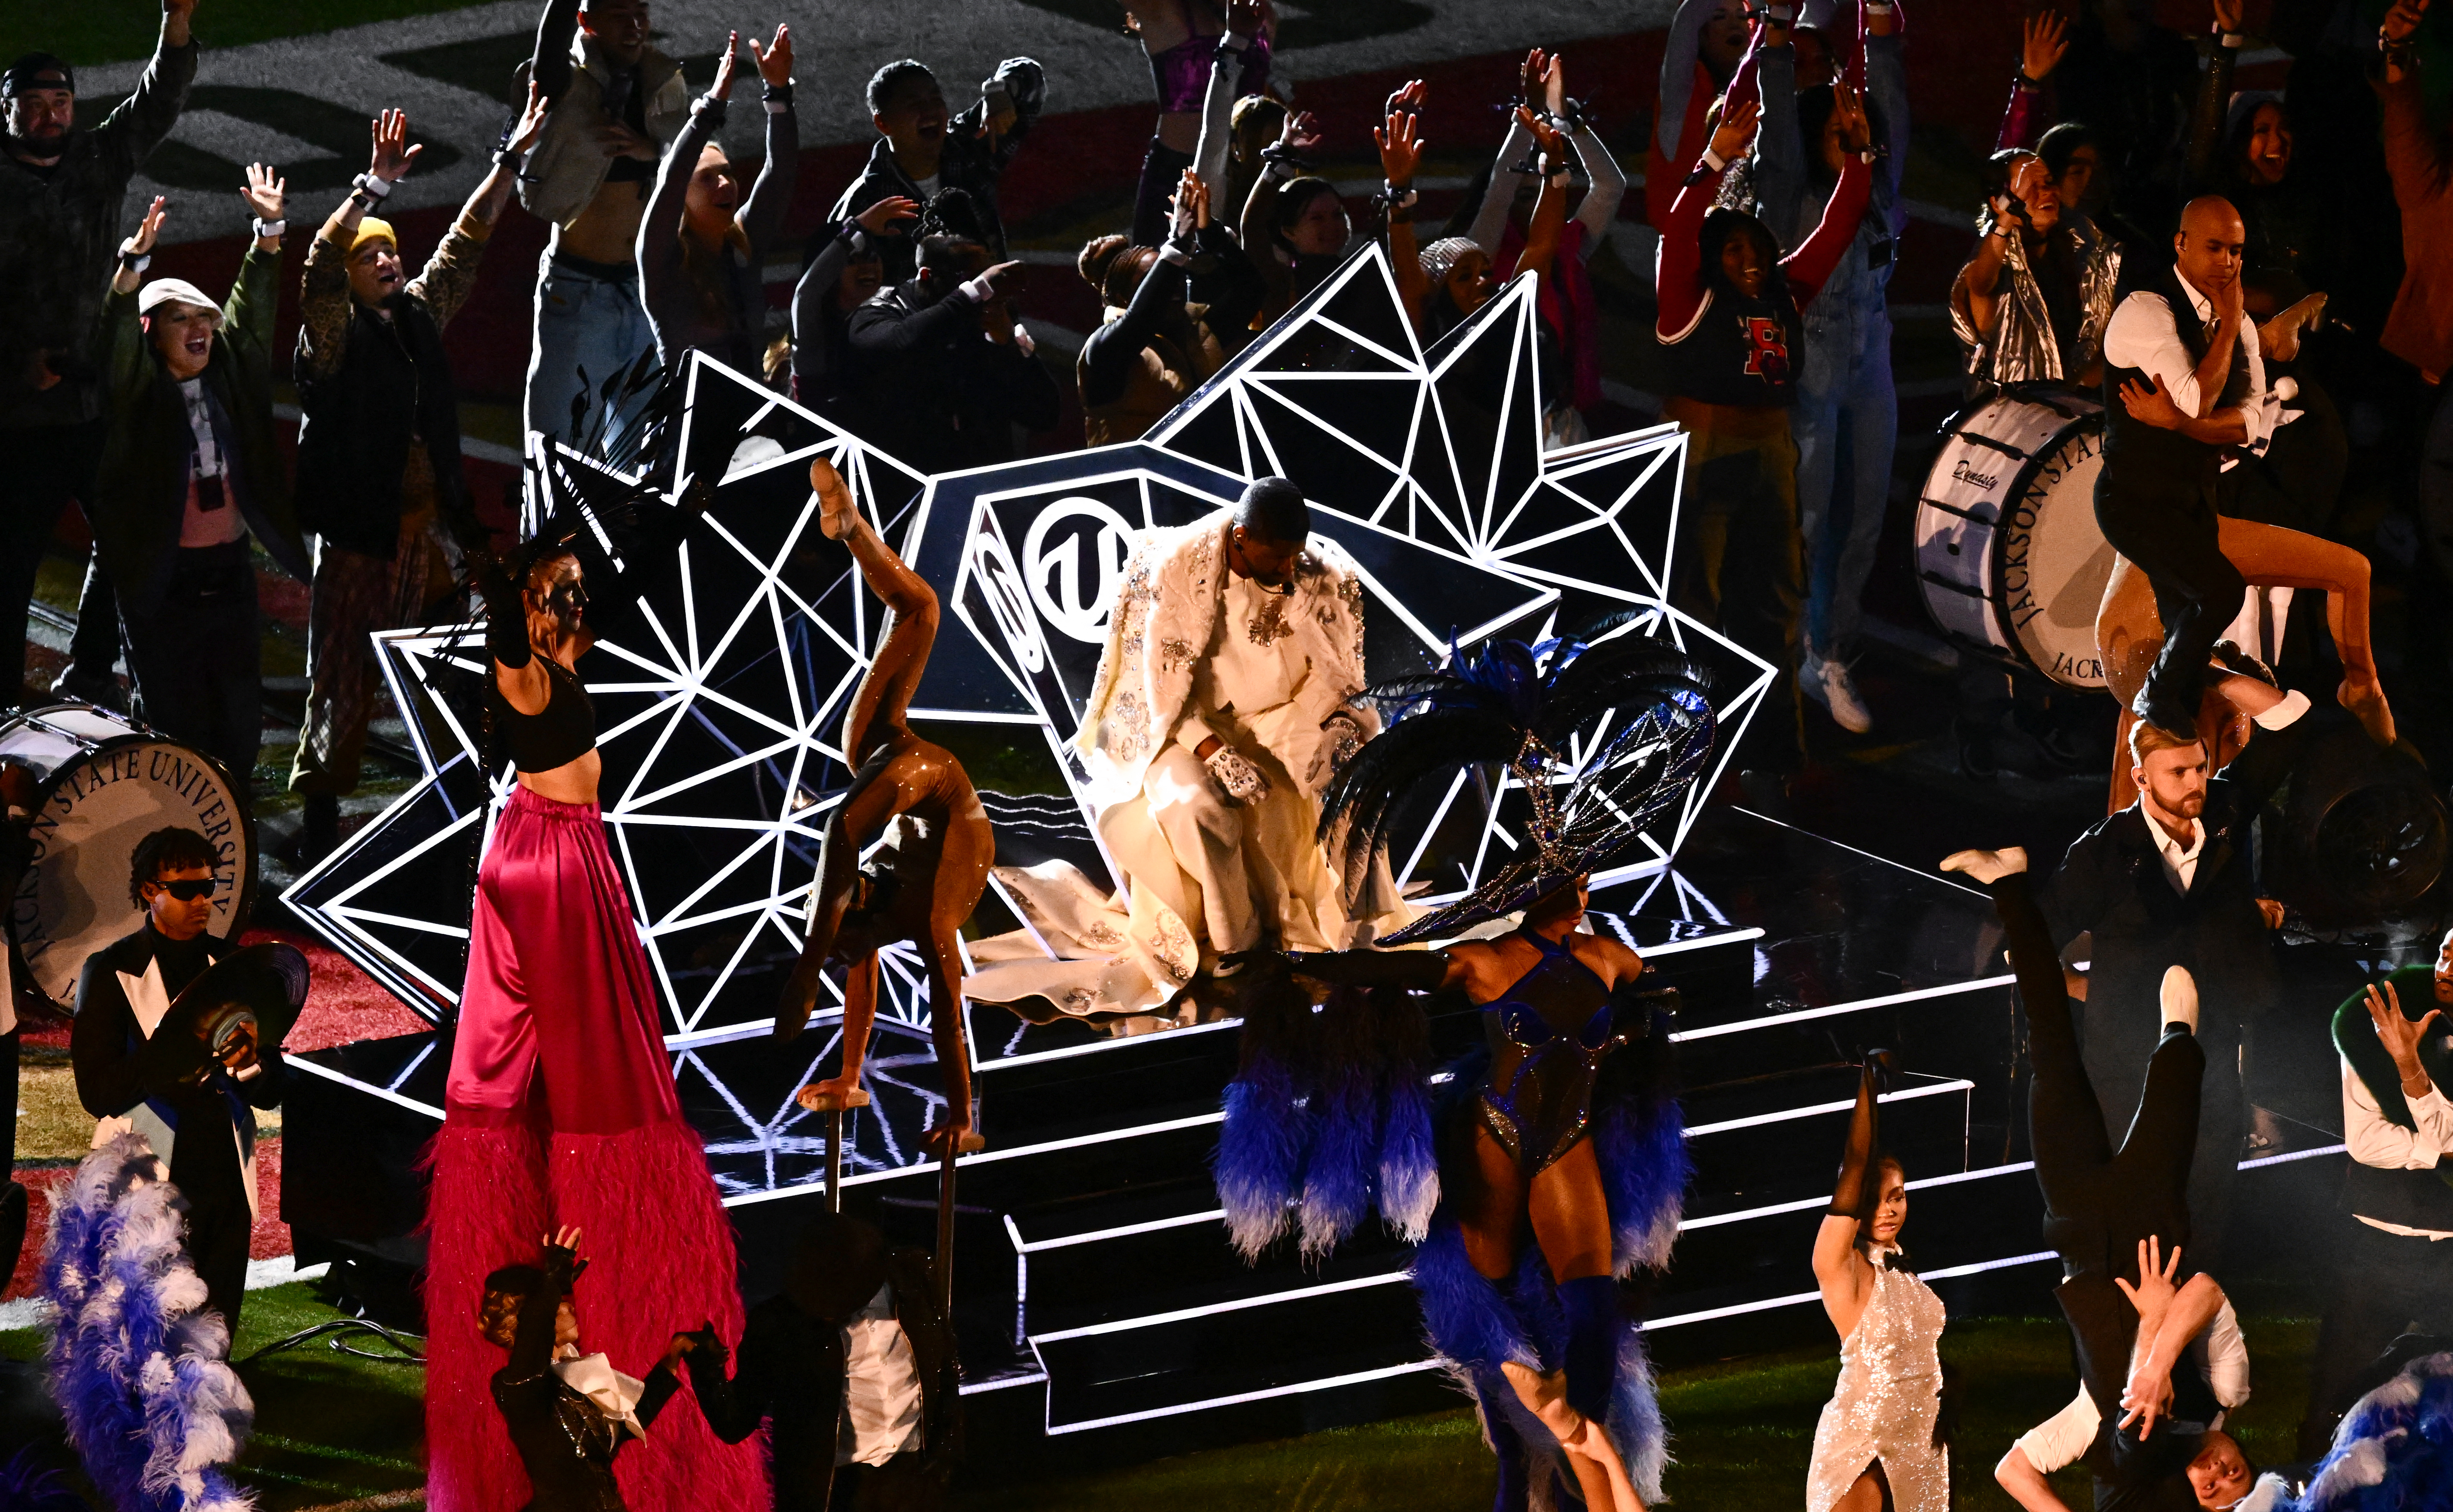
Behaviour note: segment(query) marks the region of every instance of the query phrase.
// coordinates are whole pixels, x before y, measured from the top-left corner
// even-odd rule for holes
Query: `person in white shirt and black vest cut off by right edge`
[[[2333,1015],[2343,1054],[2340,1272],[2308,1370],[2301,1456],[2406,1358],[2453,1348],[2453,934]],[[2414,1326],[2416,1323],[2416,1326]]]

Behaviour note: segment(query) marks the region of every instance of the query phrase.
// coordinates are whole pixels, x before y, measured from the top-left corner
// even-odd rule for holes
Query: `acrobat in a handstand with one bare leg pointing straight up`
[[[795,1039],[817,1007],[817,988],[829,963],[844,975],[844,1064],[834,1078],[800,1088],[802,1108],[859,1108],[861,1061],[878,1017],[878,948],[913,941],[927,963],[930,1034],[944,1078],[944,1117],[925,1144],[944,1154],[981,1147],[971,1132],[971,1054],[962,1024],[962,926],[989,887],[996,865],[996,831],[979,792],[942,745],[913,735],[905,713],[913,689],[937,642],[937,593],[920,581],[873,524],[861,517],[834,463],[809,463],[817,490],[817,527],[851,546],[861,581],[893,613],[886,642],[868,662],[861,691],[844,718],[844,760],[854,767],[844,801],[827,821],[817,853],[817,899],[775,1010],[775,1039]],[[876,870],[861,870],[861,853],[893,826],[893,843]]]

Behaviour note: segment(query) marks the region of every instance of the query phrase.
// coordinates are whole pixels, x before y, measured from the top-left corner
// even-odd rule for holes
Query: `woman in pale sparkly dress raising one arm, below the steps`
[[[1832,1206],[1815,1233],[1823,1311],[1840,1331],[1840,1385],[1815,1424],[1805,1512],[1948,1512],[1943,1299],[1904,1267],[1908,1179],[1874,1154],[1877,1095],[1889,1056],[1867,1059],[1850,1115]]]

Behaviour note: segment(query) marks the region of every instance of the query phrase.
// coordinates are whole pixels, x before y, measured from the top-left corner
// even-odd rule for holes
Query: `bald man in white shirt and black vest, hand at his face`
[[[2132,713],[2186,738],[2198,733],[2208,654],[2247,591],[2222,554],[2215,478],[2225,451],[2269,429],[2267,365],[2242,309],[2244,243],[2230,201],[2188,201],[2173,262],[2149,267],[2105,331],[2095,522],[2146,573],[2164,620]]]

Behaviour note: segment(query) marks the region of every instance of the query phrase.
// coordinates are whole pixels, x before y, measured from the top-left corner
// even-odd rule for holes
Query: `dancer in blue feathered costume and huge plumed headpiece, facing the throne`
[[[1388,943],[1518,924],[1433,951],[1246,958],[1217,1162],[1226,1223],[1249,1257],[1290,1225],[1312,1257],[1379,1206],[1420,1242],[1423,1323],[1482,1407],[1499,1510],[1636,1512],[1668,1453],[1619,1282],[1668,1260],[1690,1166],[1668,995],[1639,990],[1644,961],[1580,926],[1587,877],[1702,769],[1712,711],[1688,662],[1636,637],[1499,642],[1366,696],[1396,718],[1322,806],[1349,868],[1460,765],[1504,767],[1501,801],[1531,841]],[[1450,990],[1482,1010],[1489,1044],[1450,1066],[1433,1108],[1423,1005]]]

